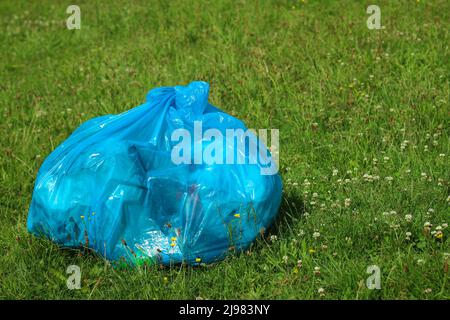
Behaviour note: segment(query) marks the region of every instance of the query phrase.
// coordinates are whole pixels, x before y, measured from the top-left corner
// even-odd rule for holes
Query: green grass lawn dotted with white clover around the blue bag
[[[2,1],[0,298],[450,299],[450,2],[376,2],[382,30],[367,1],[76,1],[76,31],[73,1]],[[280,129],[267,238],[213,265],[117,270],[27,233],[38,168],[75,128],[192,80],[248,127]]]

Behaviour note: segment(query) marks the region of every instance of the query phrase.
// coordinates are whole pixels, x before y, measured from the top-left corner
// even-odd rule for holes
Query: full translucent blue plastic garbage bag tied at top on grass
[[[205,82],[156,88],[141,106],[82,124],[42,164],[28,230],[127,264],[208,263],[248,248],[278,212],[281,179],[237,147],[255,136],[218,143],[247,128],[208,93]],[[196,136],[199,126],[217,135]],[[208,147],[215,162],[198,157]]]

